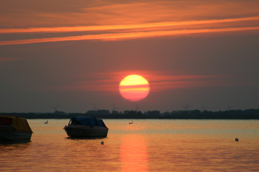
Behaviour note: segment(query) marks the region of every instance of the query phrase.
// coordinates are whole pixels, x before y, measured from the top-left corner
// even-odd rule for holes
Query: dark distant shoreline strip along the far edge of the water
[[[251,109],[246,111],[231,110],[211,112],[206,111],[190,111],[170,114],[88,114],[88,113],[70,113],[70,114],[54,114],[54,113],[0,113],[0,115],[18,116],[26,119],[70,119],[75,116],[94,116],[99,119],[259,119],[259,109]]]

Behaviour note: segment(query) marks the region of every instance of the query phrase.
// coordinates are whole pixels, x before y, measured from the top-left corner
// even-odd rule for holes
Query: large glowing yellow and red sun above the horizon
[[[125,99],[138,101],[148,95],[149,84],[142,76],[129,75],[120,82],[119,90]]]

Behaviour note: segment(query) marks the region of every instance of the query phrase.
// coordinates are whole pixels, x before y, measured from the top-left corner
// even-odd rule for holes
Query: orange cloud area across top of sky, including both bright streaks
[[[55,7],[58,4],[49,9],[44,6],[45,3],[42,3],[43,6],[37,3],[20,4],[23,8],[9,4],[9,10],[0,7],[0,34],[5,38],[0,45],[69,40],[118,41],[258,30],[259,27],[256,1],[92,1],[76,4],[66,2],[62,6],[64,9]],[[51,33],[64,34],[55,36]],[[12,36],[8,37],[9,34]],[[24,39],[26,34],[34,39]]]

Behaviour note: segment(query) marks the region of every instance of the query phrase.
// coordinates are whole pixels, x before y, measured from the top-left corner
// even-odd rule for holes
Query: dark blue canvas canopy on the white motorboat
[[[77,117],[71,118],[68,125],[75,125],[75,124],[86,125],[90,127],[98,126],[98,127],[107,128],[102,119],[97,119],[92,116],[77,116]]]

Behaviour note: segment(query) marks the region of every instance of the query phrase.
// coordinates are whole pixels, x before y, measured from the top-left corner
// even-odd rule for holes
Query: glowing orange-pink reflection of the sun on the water
[[[122,171],[148,171],[146,141],[141,135],[126,135],[120,146]]]

